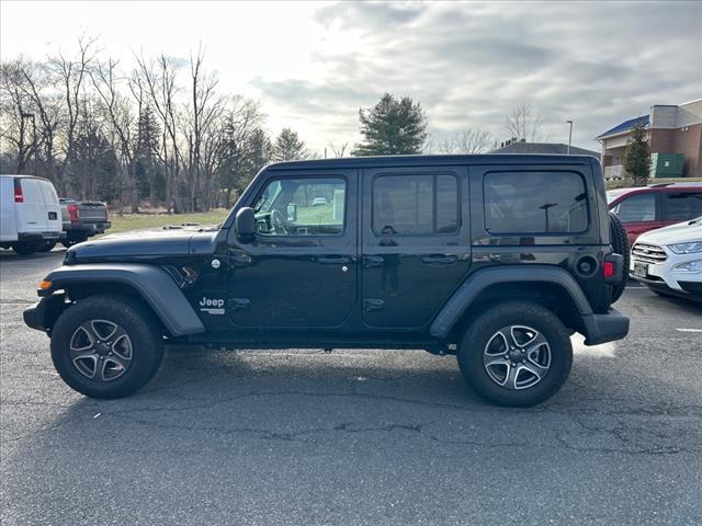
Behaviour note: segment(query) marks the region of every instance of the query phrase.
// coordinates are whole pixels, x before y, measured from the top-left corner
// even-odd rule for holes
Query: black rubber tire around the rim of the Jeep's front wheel
[[[128,336],[131,358],[128,367],[123,368],[121,376],[109,379],[89,378],[84,371],[81,373],[71,357],[72,339],[81,324],[90,324],[93,320],[106,320],[107,323],[116,324]],[[107,345],[107,348],[114,351],[115,343],[109,343],[111,345]],[[98,351],[88,350],[86,353],[95,354],[93,363],[99,363]],[[105,364],[114,359],[106,355],[100,357]],[[68,386],[91,398],[112,399],[133,395],[156,374],[162,357],[163,339],[160,324],[146,307],[126,297],[91,296],[79,300],[64,311],[52,332],[52,359],[56,370]],[[104,370],[106,369],[103,368],[103,373]]]

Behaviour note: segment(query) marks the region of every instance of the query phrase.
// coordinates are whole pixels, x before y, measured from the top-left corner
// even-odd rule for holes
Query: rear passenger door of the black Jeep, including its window
[[[419,329],[471,265],[465,167],[363,171],[363,322]]]

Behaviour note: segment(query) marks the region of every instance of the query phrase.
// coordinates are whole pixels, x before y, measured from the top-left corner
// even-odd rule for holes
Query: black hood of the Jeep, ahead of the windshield
[[[165,227],[104,236],[70,248],[66,261],[173,256],[214,252],[218,230],[203,227]]]

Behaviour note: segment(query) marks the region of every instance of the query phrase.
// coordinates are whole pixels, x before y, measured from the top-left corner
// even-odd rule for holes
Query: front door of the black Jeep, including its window
[[[356,304],[356,172],[268,172],[247,206],[257,235],[228,240],[236,325],[340,327]]]

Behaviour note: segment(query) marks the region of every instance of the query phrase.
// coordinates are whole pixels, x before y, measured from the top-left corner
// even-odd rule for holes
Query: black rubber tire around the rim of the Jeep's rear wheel
[[[497,335],[498,331],[511,325],[532,328],[537,331],[545,339],[550,354],[548,367],[545,374],[541,375],[540,379],[532,386],[518,389],[510,389],[500,385],[490,376],[484,362],[484,354],[488,348],[491,348],[487,347],[488,343],[494,341],[494,336]],[[535,352],[545,352],[542,351],[544,347],[540,348],[540,351]],[[518,351],[519,347],[513,352]],[[510,352],[509,348],[507,348],[507,352]],[[510,369],[511,358],[505,358],[502,354],[489,356],[488,361],[491,357],[495,357],[496,361],[498,357],[499,359],[505,359],[505,384],[507,384],[507,375],[512,370]],[[525,408],[547,400],[561,389],[566,378],[568,378],[573,365],[573,346],[569,331],[552,311],[539,304],[516,300],[497,304],[473,321],[458,345],[457,358],[463,378],[479,397],[498,405]],[[524,361],[523,363],[531,365],[531,361]],[[496,363],[496,365],[500,366],[502,364]],[[521,365],[513,367],[513,370],[518,371],[517,379],[520,377],[536,378],[535,375],[525,370]],[[499,369],[501,367],[498,367]]]

